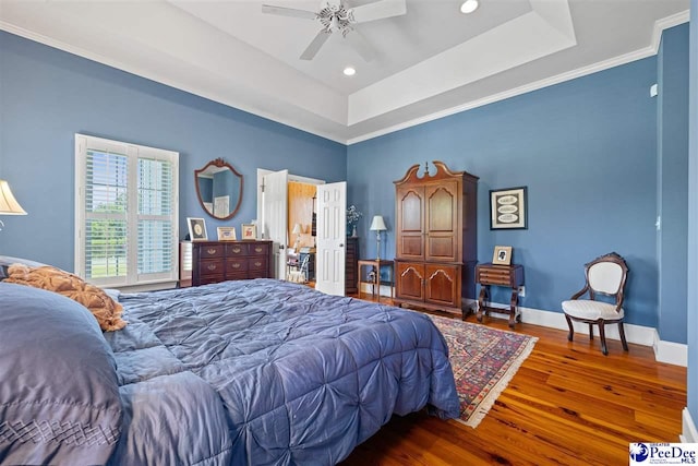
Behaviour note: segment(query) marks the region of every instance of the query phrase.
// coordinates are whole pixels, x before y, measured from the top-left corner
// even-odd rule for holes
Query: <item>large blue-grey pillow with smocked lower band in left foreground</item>
[[[120,438],[113,354],[89,311],[0,283],[0,458],[106,464]]]

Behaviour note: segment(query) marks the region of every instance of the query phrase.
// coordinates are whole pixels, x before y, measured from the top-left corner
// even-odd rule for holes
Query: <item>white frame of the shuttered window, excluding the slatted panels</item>
[[[124,154],[128,157],[127,177],[127,274],[105,278],[86,277],[85,225],[89,214],[86,210],[87,189],[87,152],[104,151]],[[171,222],[171,270],[161,273],[139,274],[139,220],[157,219],[153,215],[139,213],[139,160],[157,159],[171,163],[171,213],[165,216]],[[105,214],[122,216],[122,214]],[[139,144],[107,140],[75,133],[75,274],[86,277],[91,283],[101,287],[158,289],[173,286],[179,279],[179,153]]]

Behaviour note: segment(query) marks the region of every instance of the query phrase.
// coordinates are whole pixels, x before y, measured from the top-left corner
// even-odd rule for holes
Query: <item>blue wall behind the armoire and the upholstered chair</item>
[[[443,160],[480,177],[478,259],[514,247],[526,267],[522,306],[559,311],[583,285],[583,264],[617,251],[631,271],[627,321],[658,326],[655,81],[657,58],[647,58],[349,146],[362,255],[375,255],[366,218],[382,214],[390,229],[382,256],[394,256],[393,181]],[[490,230],[489,191],[520,186],[528,229]]]

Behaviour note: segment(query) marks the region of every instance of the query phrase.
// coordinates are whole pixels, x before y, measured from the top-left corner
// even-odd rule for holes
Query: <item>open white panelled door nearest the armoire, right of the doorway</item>
[[[317,187],[315,289],[345,295],[347,242],[347,183]]]

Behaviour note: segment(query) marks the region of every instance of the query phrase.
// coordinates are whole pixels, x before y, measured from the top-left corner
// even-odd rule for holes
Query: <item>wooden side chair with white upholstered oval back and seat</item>
[[[605,324],[617,323],[623,349],[627,351],[628,344],[625,339],[625,330],[623,327],[625,318],[623,299],[625,282],[628,276],[628,266],[625,260],[617,253],[611,252],[589,262],[585,265],[585,268],[587,284],[569,301],[563,301],[563,312],[569,326],[567,339],[571,342],[575,335],[573,321],[589,324],[590,339],[593,339],[593,325],[599,325],[601,351],[607,356]],[[589,299],[580,299],[586,294],[589,295]],[[610,296],[615,302],[597,300],[598,295]]]

